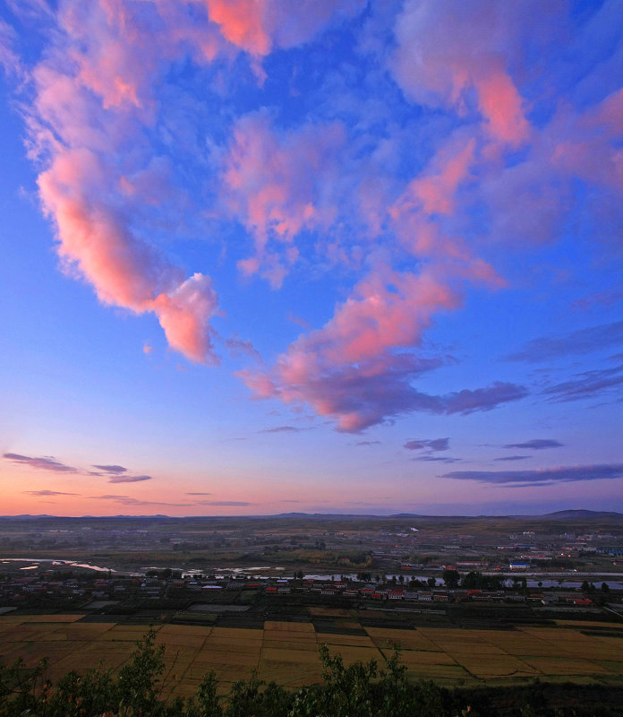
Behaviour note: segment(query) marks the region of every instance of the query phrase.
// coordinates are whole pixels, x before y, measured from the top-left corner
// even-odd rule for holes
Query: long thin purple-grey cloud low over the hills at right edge
[[[475,480],[510,487],[549,486],[572,481],[623,478],[623,463],[536,468],[531,471],[453,471],[441,478]]]

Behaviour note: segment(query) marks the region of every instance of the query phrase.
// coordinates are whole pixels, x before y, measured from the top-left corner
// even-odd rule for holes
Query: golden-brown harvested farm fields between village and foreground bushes
[[[362,626],[356,612],[347,610],[324,610],[322,617],[334,619],[331,632],[321,632],[312,622],[276,620],[267,620],[263,629],[155,626],[157,643],[165,646],[162,694],[192,695],[209,670],[224,691],[236,679],[250,677],[253,669],[261,679],[284,687],[320,682],[320,644],[346,663],[376,660],[380,665],[399,644],[411,678],[431,678],[447,687],[505,686],[533,678],[623,685],[623,627],[617,623],[396,629]],[[53,680],[100,662],[119,669],[147,630],[83,615],[3,616],[0,661],[21,657],[31,667],[48,657],[47,675]]]

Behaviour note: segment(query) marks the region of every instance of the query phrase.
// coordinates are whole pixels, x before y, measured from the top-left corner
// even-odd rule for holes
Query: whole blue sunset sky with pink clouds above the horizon
[[[0,0],[0,514],[623,511],[621,0]]]

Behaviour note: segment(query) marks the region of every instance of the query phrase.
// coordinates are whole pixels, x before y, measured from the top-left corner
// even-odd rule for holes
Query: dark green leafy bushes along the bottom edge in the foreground
[[[0,668],[0,717],[602,717],[621,714],[593,698],[572,707],[548,707],[542,685],[504,690],[479,688],[454,692],[430,680],[411,684],[395,650],[383,669],[375,661],[345,666],[320,647],[323,684],[291,692],[256,676],[235,682],[218,696],[214,672],[194,696],[162,698],[162,646],[149,633],[137,644],[132,661],[114,676],[110,669],[69,672],[52,684],[44,678],[46,661],[25,669],[21,661]],[[581,690],[581,687],[577,687]],[[590,693],[590,689],[588,693]],[[583,693],[584,694],[584,693]],[[616,699],[615,695],[615,699]],[[465,706],[472,704],[472,706]],[[503,705],[499,709],[499,705]],[[616,704],[616,703],[615,703]]]

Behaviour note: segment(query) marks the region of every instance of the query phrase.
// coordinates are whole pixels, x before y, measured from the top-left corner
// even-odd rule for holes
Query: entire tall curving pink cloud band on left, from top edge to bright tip
[[[65,4],[23,107],[30,153],[44,165],[39,197],[65,271],[89,281],[104,304],[155,314],[169,345],[186,357],[214,362],[209,321],[218,298],[209,277],[185,278],[132,220],[146,204],[179,196],[167,160],[145,151],[159,65],[175,56],[177,42],[198,40],[190,17],[168,10],[153,4],[140,17],[124,3]],[[166,34],[155,30],[158,20],[170,22]],[[203,48],[209,43],[206,28]],[[128,142],[133,152],[125,151]]]

